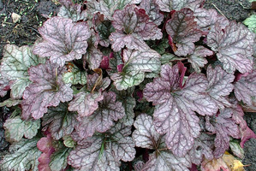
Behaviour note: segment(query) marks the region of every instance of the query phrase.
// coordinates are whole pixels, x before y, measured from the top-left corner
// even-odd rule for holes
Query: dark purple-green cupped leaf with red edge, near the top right
[[[173,13],[165,28],[176,44],[176,48],[173,48],[173,50],[177,56],[192,54],[194,50],[193,43],[197,42],[202,35],[196,21],[194,21],[191,9],[182,9]]]

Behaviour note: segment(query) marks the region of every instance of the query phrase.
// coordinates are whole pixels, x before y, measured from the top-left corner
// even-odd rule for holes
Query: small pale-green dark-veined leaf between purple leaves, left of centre
[[[86,71],[81,71],[74,64],[68,64],[68,72],[63,74],[63,81],[65,84],[71,83],[72,85],[85,85],[86,84]]]

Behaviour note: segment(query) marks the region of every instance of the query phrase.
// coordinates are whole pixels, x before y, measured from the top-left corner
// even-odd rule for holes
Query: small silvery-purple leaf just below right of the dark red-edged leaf
[[[204,46],[197,46],[194,49],[193,54],[188,56],[188,62],[191,63],[192,68],[194,69],[195,72],[200,73],[200,68],[204,68],[205,64],[207,63],[205,57],[212,55],[213,52],[211,50],[208,50]]]

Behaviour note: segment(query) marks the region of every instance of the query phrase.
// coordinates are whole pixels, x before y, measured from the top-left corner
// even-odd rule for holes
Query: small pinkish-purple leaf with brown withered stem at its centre
[[[68,110],[77,111],[79,118],[92,115],[98,109],[98,102],[104,99],[102,91],[110,85],[110,79],[106,77],[101,80],[101,83],[98,83],[99,77],[96,73],[88,75],[86,91],[75,94],[74,99],[68,104]],[[95,90],[93,90],[94,86]]]

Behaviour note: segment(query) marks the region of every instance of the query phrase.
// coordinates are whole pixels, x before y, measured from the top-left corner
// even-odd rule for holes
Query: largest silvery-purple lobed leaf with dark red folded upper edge
[[[213,115],[217,106],[205,94],[205,75],[193,73],[182,85],[184,66],[178,62],[173,68],[163,65],[161,77],[146,85],[144,97],[157,105],[154,125],[158,133],[166,133],[165,143],[176,156],[185,156],[199,136],[200,115]],[[180,74],[181,73],[181,74]]]

